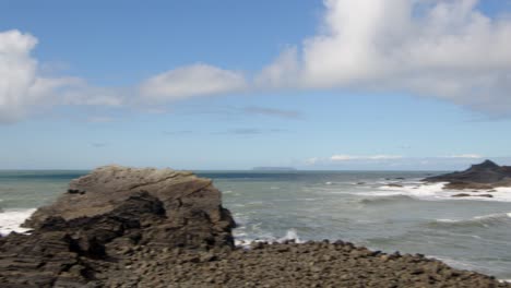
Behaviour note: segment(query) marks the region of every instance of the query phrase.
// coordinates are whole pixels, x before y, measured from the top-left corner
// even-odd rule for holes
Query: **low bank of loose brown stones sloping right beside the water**
[[[385,254],[342,241],[124,253],[98,275],[106,287],[511,287],[420,254]]]

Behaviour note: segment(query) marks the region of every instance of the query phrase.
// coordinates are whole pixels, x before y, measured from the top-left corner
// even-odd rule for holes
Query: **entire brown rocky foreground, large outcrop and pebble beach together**
[[[109,166],[0,238],[1,287],[511,287],[423,255],[352,243],[234,247],[212,181]]]

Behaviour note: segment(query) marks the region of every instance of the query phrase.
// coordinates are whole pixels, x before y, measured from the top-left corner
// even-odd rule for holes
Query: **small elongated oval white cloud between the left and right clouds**
[[[144,99],[173,100],[239,92],[246,87],[241,73],[207,64],[193,64],[144,81],[140,86],[140,94]]]

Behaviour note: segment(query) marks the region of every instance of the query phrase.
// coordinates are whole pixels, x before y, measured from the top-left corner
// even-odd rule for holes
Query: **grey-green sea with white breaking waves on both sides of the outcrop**
[[[0,171],[0,233],[54,201],[87,171]],[[421,253],[451,266],[511,278],[511,189],[451,197],[428,171],[198,171],[223,191],[236,243],[296,239]],[[480,194],[468,191],[467,193]],[[486,193],[486,192],[485,192]]]

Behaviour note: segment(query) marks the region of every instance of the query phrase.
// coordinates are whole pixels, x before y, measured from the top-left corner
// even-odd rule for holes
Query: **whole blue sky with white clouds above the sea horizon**
[[[510,0],[0,0],[0,169],[511,165]]]

